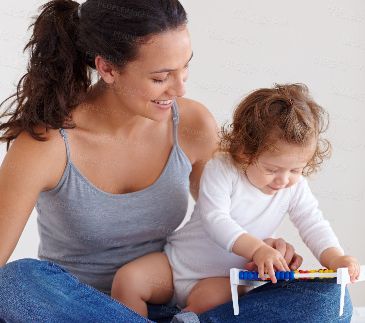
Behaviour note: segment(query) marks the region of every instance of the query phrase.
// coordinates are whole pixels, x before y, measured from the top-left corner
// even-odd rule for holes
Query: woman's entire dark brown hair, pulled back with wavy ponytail
[[[21,131],[39,136],[34,126],[72,129],[69,116],[87,95],[95,58],[100,55],[119,73],[140,57],[139,47],[153,42],[154,35],[180,30],[187,13],[178,0],[88,0],[81,5],[72,0],[53,0],[42,5],[30,41],[27,73],[20,79],[16,96],[0,116],[11,116],[0,124],[0,141],[9,144]],[[28,29],[29,29],[28,28]],[[10,111],[16,103],[15,111]]]

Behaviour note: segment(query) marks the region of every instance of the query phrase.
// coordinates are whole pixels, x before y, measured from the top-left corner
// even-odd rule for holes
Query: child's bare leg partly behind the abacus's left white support
[[[251,286],[238,285],[238,297],[251,289],[253,289]],[[192,288],[186,301],[186,307],[181,312],[190,311],[200,314],[230,300],[232,300],[232,293],[229,277],[205,278]]]

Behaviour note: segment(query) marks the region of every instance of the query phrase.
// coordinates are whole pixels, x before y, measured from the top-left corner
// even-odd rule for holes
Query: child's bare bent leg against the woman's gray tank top
[[[115,274],[111,297],[147,317],[147,304],[163,304],[172,299],[173,280],[165,254],[154,252],[135,259]]]

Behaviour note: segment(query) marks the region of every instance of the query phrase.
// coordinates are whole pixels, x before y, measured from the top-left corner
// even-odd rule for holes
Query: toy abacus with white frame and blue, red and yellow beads
[[[311,277],[308,277],[311,276]],[[268,272],[265,272],[265,277],[268,280],[270,276]],[[280,279],[312,279],[312,278],[337,278],[337,284],[341,285],[341,295],[340,295],[340,316],[343,313],[343,301],[345,300],[345,287],[347,283],[350,283],[349,268],[337,268],[337,272],[334,273],[333,270],[319,269],[319,270],[291,270],[286,272],[275,272],[275,277],[277,280]],[[231,280],[231,292],[233,301],[233,311],[234,315],[238,315],[238,285],[253,286],[258,287],[266,284],[266,280],[261,280],[258,276],[258,272],[251,272],[245,269],[230,269],[230,280]],[[365,280],[365,265],[360,266],[360,277],[356,281]],[[355,281],[355,282],[356,282]]]

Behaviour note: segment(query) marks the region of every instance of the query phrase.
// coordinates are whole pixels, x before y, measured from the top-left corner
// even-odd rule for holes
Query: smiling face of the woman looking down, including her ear
[[[173,99],[185,94],[192,58],[188,28],[156,35],[138,50],[141,57],[127,62],[123,74],[112,71],[114,82],[102,82],[104,91],[114,96],[116,104],[130,116],[161,121],[169,116]]]

